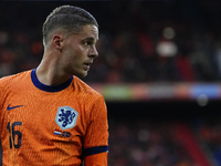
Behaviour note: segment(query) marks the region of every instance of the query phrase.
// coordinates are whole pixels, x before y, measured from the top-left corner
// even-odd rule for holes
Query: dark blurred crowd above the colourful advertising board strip
[[[2,3],[2,2],[1,2]],[[65,2],[4,2],[0,77],[36,68],[41,29]],[[221,79],[220,1],[71,2],[99,23],[99,58],[87,82],[213,82]]]

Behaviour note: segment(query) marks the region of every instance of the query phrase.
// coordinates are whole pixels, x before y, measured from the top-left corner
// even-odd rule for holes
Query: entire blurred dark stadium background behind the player
[[[84,81],[107,102],[109,166],[221,166],[221,1],[0,2],[0,77],[38,66],[67,3],[99,23]]]

